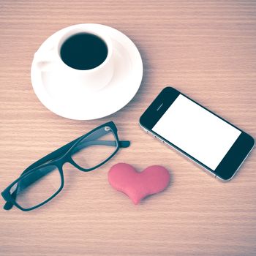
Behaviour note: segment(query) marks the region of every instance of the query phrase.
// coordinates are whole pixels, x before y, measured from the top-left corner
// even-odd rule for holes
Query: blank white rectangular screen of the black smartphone
[[[211,170],[216,170],[241,134],[181,94],[152,130]]]

